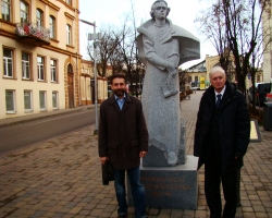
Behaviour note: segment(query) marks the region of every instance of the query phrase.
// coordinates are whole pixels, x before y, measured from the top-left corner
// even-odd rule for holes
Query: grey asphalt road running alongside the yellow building
[[[0,129],[0,154],[32,145],[94,124],[95,122],[95,109],[89,109],[2,128]]]

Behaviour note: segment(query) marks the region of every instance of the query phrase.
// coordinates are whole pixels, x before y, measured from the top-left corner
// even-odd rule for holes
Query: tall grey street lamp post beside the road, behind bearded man
[[[101,34],[96,33],[96,22],[90,23],[84,20],[79,20],[81,22],[94,26],[94,34],[88,34],[88,40],[94,40],[94,59],[95,59],[95,66],[94,66],[94,74],[95,74],[95,106],[96,106],[96,130],[94,134],[98,134],[98,107],[97,107],[97,40],[101,39]]]

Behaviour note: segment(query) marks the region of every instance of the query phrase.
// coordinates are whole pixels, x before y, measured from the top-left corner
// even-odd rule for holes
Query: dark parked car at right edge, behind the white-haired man
[[[256,95],[256,104],[263,106],[267,101],[267,93],[271,90],[271,83],[256,83],[255,88],[251,86],[248,89],[248,99],[250,102],[254,101],[254,95]]]

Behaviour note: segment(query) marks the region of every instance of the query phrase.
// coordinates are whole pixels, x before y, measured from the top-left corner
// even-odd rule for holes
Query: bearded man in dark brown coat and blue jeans
[[[148,150],[148,131],[141,102],[126,93],[123,74],[111,77],[113,95],[100,106],[98,148],[101,164],[114,169],[119,217],[126,217],[125,171],[135,206],[135,218],[146,217],[145,187],[140,184],[140,158]]]

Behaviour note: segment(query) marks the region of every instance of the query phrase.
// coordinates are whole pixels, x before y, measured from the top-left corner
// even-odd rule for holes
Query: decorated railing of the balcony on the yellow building
[[[36,23],[17,23],[16,33],[20,37],[34,37],[50,43],[50,29]]]

